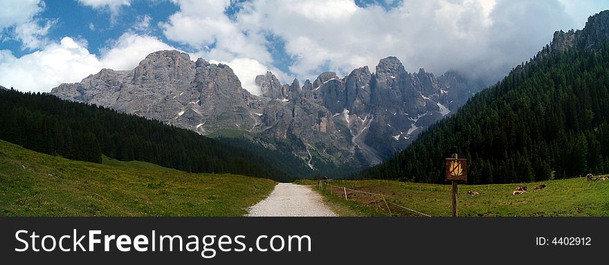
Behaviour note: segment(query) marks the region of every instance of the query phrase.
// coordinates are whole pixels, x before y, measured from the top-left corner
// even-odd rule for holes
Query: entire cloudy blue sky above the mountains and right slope
[[[0,85],[48,92],[176,49],[228,64],[244,89],[340,76],[396,56],[406,71],[491,84],[609,9],[592,0],[0,0]]]

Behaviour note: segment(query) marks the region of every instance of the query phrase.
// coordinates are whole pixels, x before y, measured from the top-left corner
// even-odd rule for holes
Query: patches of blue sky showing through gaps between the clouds
[[[242,10],[244,2],[246,1],[230,1],[230,6],[226,7],[225,14],[234,19],[239,10]],[[376,5],[390,10],[396,7],[399,1],[357,0],[355,3],[363,8]],[[85,39],[89,52],[96,55],[101,55],[102,49],[107,48],[111,44],[109,43],[111,40],[117,39],[127,30],[132,30],[132,26],[138,21],[149,17],[149,23],[155,25],[167,21],[170,15],[180,10],[179,5],[172,1],[131,1],[129,6],[122,6],[114,12],[109,7],[93,8],[78,4],[78,1],[46,1],[45,4],[44,11],[38,15],[39,18],[56,20],[48,37],[62,39],[65,36],[75,36],[78,39]],[[167,39],[158,27],[150,27],[145,33],[154,35],[183,51],[196,52],[188,45]],[[293,60],[284,51],[284,40],[272,34],[268,35],[267,39],[275,66],[289,73],[288,66]],[[1,47],[12,51],[13,55],[17,57],[36,50],[36,48],[21,48],[21,42],[17,39],[6,39]]]

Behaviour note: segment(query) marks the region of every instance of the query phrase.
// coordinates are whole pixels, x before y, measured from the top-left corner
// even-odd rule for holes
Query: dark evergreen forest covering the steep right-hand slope
[[[443,183],[444,158],[455,152],[468,159],[468,183],[609,172],[609,46],[546,46],[403,152],[353,177]]]

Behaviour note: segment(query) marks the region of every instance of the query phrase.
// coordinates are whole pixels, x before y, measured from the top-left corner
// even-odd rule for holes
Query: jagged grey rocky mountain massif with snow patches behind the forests
[[[103,69],[80,83],[61,84],[60,98],[154,118],[199,134],[247,131],[256,143],[302,158],[311,170],[380,163],[466,102],[482,84],[458,73],[408,73],[387,57],[346,77],[281,84],[259,75],[262,96],[242,88],[229,66],[196,62],[179,51],[148,55],[132,71]]]

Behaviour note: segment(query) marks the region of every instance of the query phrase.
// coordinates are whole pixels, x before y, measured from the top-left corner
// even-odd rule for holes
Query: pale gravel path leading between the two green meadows
[[[336,217],[311,187],[279,183],[269,197],[250,208],[251,217]]]

